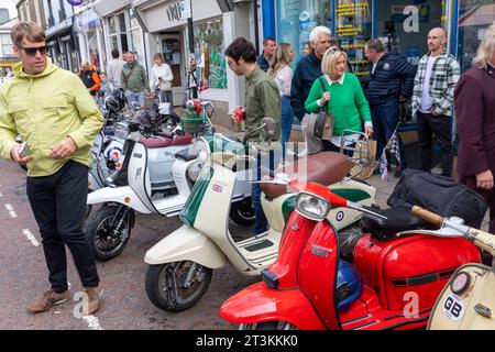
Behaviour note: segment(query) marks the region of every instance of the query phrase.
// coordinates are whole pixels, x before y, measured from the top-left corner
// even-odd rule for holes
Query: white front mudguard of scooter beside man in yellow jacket
[[[123,187],[105,187],[88,194],[88,205],[98,205],[103,202],[118,202],[125,207],[132,208],[141,213],[151,213],[143,202],[140,200],[134,190],[129,186]]]

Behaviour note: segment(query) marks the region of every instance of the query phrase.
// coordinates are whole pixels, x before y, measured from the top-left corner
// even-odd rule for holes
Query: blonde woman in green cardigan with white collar
[[[324,107],[333,114],[333,136],[321,141],[324,151],[340,152],[341,136],[344,130],[364,131],[373,135],[370,106],[356,76],[346,73],[348,55],[337,46],[330,47],[321,59],[323,76],[315,80],[305,109],[308,112],[319,112]],[[321,87],[322,79],[324,91]],[[345,133],[346,146],[353,146],[360,134]],[[354,141],[351,142],[351,141]]]

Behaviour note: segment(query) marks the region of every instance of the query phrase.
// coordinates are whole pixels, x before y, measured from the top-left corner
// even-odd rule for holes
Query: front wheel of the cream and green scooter
[[[150,265],[145,284],[147,298],[163,310],[188,309],[208,290],[212,275],[211,268],[190,261]]]

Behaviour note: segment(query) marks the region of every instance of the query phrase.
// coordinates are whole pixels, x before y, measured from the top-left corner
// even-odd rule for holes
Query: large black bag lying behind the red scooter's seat
[[[442,217],[459,217],[469,227],[480,228],[486,212],[482,196],[468,186],[443,176],[405,169],[387,199],[391,207],[420,206]]]

